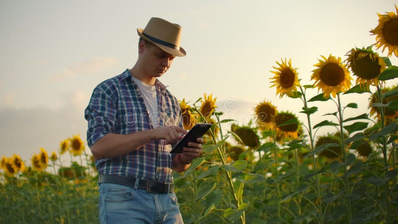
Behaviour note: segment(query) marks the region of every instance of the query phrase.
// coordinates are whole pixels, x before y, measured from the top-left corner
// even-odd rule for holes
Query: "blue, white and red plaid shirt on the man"
[[[160,126],[182,126],[178,100],[158,80],[155,86]],[[130,134],[153,128],[144,99],[128,69],[94,89],[85,118],[89,147],[107,133]],[[96,166],[100,174],[171,182],[173,162],[170,150],[171,145],[165,145],[164,140],[151,140],[125,156],[96,160]]]

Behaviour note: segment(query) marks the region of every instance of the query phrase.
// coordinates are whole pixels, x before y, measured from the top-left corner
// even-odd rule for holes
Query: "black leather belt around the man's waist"
[[[135,177],[100,174],[98,182],[109,183],[109,184],[120,184],[134,188],[136,180],[137,178]],[[174,192],[174,185],[173,183],[164,183],[164,182],[151,181],[146,179],[139,179],[138,189],[145,190],[149,193],[163,194],[163,193]]]

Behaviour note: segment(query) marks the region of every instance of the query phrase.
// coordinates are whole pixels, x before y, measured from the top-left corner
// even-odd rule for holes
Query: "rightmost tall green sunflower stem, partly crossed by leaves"
[[[382,90],[381,90],[382,88],[380,87],[380,84],[377,86],[377,92],[378,92],[378,95],[379,95],[379,103],[382,103],[383,102],[383,98],[382,98]],[[380,110],[380,117],[381,117],[381,119],[382,119],[382,129],[386,126],[386,124],[385,124],[385,116],[384,116],[384,108],[379,108],[379,110]],[[386,139],[386,135],[383,135],[383,137],[382,137],[382,139],[383,139],[383,148],[382,148],[382,151],[383,151],[383,158],[384,158],[384,168],[387,168],[388,167],[388,160],[387,160],[387,139]],[[386,169],[386,174],[387,174],[387,172],[389,171],[389,169]],[[386,223],[387,224],[390,224],[391,222],[390,222],[390,186],[389,186],[389,181],[386,181],[386,183],[384,184],[384,187],[385,187],[385,201],[386,201],[386,213],[387,213],[387,216],[386,216]]]

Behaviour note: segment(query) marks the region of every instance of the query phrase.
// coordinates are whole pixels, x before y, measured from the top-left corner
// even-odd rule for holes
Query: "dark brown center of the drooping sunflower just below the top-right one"
[[[380,75],[382,66],[379,64],[379,60],[377,60],[377,58],[373,60],[369,56],[370,54],[358,58],[352,65],[354,74],[363,79],[374,79]],[[357,57],[357,54],[355,54],[354,57]]]

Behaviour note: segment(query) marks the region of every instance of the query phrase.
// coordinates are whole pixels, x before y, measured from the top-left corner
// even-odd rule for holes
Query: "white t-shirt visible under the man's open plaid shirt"
[[[149,118],[152,121],[153,127],[160,127],[156,87],[148,85],[134,77],[133,80],[140,89],[142,98],[144,98],[145,106],[148,110]]]

